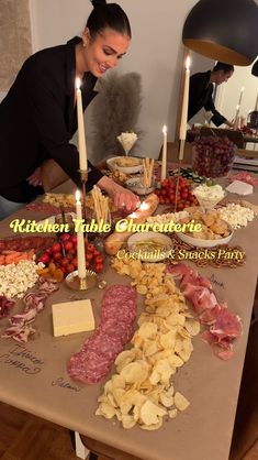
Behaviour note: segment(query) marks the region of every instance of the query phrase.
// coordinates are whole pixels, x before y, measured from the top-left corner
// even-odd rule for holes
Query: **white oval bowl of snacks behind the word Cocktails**
[[[134,233],[127,240],[127,247],[135,259],[142,262],[160,262],[169,258],[172,241],[166,234],[148,231]]]

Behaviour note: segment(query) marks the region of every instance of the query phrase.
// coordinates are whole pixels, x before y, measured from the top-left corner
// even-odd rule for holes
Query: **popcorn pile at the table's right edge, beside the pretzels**
[[[225,220],[232,226],[233,229],[239,229],[246,227],[248,222],[251,222],[255,218],[253,209],[245,208],[235,202],[229,202],[224,208],[217,210],[221,219]]]

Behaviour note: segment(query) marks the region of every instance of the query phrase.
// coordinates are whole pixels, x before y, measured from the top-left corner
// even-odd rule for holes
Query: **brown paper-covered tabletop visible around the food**
[[[71,193],[74,189],[75,185],[68,182],[55,191]],[[239,197],[228,194],[228,198]],[[248,200],[258,205],[257,188]],[[10,228],[13,219],[42,220],[45,217],[43,212],[24,207],[0,222],[0,237],[14,236]],[[36,332],[26,343],[0,338],[0,401],[138,459],[227,460],[257,285],[257,217],[246,228],[234,231],[231,244],[240,245],[245,251],[246,264],[243,266],[197,269],[187,262],[210,280],[220,303],[227,303],[228,308],[240,317],[243,335],[235,341],[234,355],[227,361],[215,357],[200,335],[192,339],[190,360],[172,376],[176,390],[190,405],[175,419],[166,419],[161,428],[153,431],[139,426],[124,429],[119,420],[96,415],[104,382],[86,385],[72,381],[67,373],[70,357],[81,349],[91,332],[54,337],[52,305],[90,299],[98,326],[104,291],[97,286],[79,292],[70,289],[65,282],[59,283],[58,291],[48,296],[44,310],[37,315]],[[111,267],[109,256],[100,277],[108,286],[131,284],[128,276],[119,275]],[[21,310],[22,300],[18,299],[12,314]],[[137,314],[143,310],[144,296],[137,295]],[[7,327],[8,318],[1,319],[0,336]],[[114,368],[106,380],[113,372]]]

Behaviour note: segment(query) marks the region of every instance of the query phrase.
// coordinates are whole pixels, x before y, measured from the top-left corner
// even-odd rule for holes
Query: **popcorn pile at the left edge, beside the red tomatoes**
[[[23,294],[36,284],[38,280],[36,270],[37,265],[34,261],[0,265],[0,295],[22,298]]]

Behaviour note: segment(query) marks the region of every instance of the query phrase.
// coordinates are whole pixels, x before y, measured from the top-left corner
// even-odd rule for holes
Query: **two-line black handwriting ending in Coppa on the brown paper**
[[[0,354],[0,363],[19,369],[27,375],[35,375],[42,371],[44,361],[34,351],[16,344],[8,352]]]

